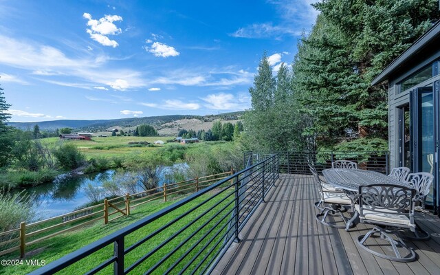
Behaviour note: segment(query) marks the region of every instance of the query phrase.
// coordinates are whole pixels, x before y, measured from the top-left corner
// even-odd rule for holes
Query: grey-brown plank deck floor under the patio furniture
[[[412,263],[388,261],[359,248],[356,239],[371,225],[349,232],[315,219],[318,192],[307,175],[281,175],[277,184],[212,274],[440,274],[440,219],[417,213],[429,241],[407,241]],[[378,249],[384,249],[377,247]]]

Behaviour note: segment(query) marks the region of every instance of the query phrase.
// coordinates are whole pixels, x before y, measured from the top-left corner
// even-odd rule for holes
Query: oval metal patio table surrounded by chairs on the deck
[[[393,177],[388,177],[382,173],[369,170],[330,168],[322,170],[322,175],[324,175],[329,184],[347,193],[347,196],[352,202],[352,210],[354,209],[354,196],[358,194],[359,186],[369,184],[396,184],[408,187],[406,182],[398,181]],[[355,212],[347,223],[345,230],[349,230],[351,223],[353,223],[357,217],[358,212]]]

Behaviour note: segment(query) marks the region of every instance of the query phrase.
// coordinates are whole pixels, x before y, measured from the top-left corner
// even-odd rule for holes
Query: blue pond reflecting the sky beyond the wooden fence
[[[175,164],[174,166],[165,167],[161,173],[159,186],[162,186],[165,175],[176,168],[186,170],[188,164]],[[100,188],[104,181],[111,180],[114,173],[115,170],[87,175],[64,174],[58,176],[52,183],[28,188],[26,191],[30,194],[33,193],[35,196],[36,219],[56,217],[85,206],[91,201],[87,196],[87,186],[91,184],[96,188]]]

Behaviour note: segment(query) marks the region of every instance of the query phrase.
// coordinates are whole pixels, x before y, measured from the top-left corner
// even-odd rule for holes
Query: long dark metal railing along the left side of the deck
[[[31,274],[61,270],[95,274],[109,272],[112,267],[113,274],[211,272],[232,242],[239,241],[243,226],[278,179],[277,154],[253,165],[248,160],[248,164],[238,173]]]

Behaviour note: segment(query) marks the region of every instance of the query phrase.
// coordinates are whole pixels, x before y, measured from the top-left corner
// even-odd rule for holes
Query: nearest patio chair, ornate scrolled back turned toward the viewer
[[[375,227],[358,237],[358,245],[364,250],[391,261],[410,262],[416,259],[412,248],[399,237],[399,228],[409,228],[414,232],[414,206],[416,191],[413,188],[394,184],[371,184],[359,187],[358,203],[355,205],[361,223],[371,223]],[[386,241],[393,248],[394,255],[384,254],[369,248],[367,239],[380,234],[377,243]],[[394,238],[393,238],[394,236]],[[377,243],[371,247],[377,247]],[[400,250],[399,250],[400,248]],[[404,256],[401,256],[404,255]]]

